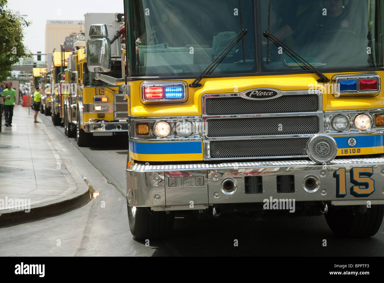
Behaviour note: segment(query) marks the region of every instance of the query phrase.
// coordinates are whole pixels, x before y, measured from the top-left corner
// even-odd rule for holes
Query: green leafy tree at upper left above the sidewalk
[[[7,0],[0,0],[0,82],[11,75],[13,64],[32,55],[23,44],[23,27],[29,24],[18,12],[7,8]]]

